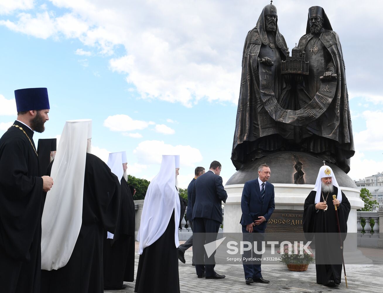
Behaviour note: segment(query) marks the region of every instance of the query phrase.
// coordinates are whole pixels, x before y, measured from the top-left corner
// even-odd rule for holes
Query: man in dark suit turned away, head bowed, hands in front
[[[205,243],[216,240],[219,226],[222,223],[222,201],[226,203],[228,194],[224,190],[222,177],[219,176],[221,169],[222,166],[218,161],[211,162],[209,171],[195,180],[191,192],[193,234],[207,233],[199,234],[199,236],[205,235],[205,239],[198,241],[197,246],[195,243],[193,245],[199,255],[203,254]],[[208,257],[205,253],[204,257],[196,257],[195,270],[198,278],[205,276],[206,279],[223,279],[225,277],[214,271],[214,254],[215,252]],[[201,264],[202,260],[205,269],[204,264]]]

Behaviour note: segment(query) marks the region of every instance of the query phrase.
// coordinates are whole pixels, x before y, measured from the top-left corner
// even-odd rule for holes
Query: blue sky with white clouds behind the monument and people
[[[151,180],[162,153],[181,155],[180,185],[197,165],[231,164],[244,39],[267,1],[0,0],[0,134],[16,118],[14,90],[47,87],[39,138],[65,120],[93,119],[93,152],[127,151],[129,172]],[[340,36],[356,154],[350,177],[383,171],[380,2],[274,1],[292,48],[307,10],[324,7]],[[373,6],[373,9],[372,9]],[[332,7],[332,8],[331,8]],[[375,58],[380,58],[375,57]]]

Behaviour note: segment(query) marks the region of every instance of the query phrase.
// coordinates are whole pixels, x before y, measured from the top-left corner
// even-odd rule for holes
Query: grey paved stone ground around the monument
[[[182,242],[181,242],[182,243]],[[136,242],[136,251],[137,251]],[[231,293],[231,292],[283,292],[283,293],[325,293],[325,292],[350,292],[350,293],[381,293],[383,287],[383,250],[382,249],[363,249],[363,254],[374,261],[374,265],[369,267],[346,268],[347,284],[344,283],[342,275],[342,284],[334,288],[318,285],[316,283],[315,267],[306,272],[291,272],[287,267],[262,267],[262,275],[270,280],[269,284],[254,283],[245,284],[242,265],[216,265],[215,270],[219,274],[226,275],[223,280],[198,279],[195,273],[195,267],[191,265],[191,250],[185,252],[186,264],[178,262],[180,275],[181,293]],[[135,273],[137,275],[138,255],[136,255]],[[343,274],[343,272],[342,272]],[[134,292],[134,282],[125,282],[124,290],[104,291],[104,293],[116,292]],[[147,292],[155,293],[155,292]]]

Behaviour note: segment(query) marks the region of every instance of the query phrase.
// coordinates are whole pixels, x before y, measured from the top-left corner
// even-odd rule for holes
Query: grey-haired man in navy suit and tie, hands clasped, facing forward
[[[245,183],[241,199],[241,225],[244,241],[257,241],[257,247],[252,250],[245,250],[243,257],[249,259],[262,258],[262,253],[257,254],[254,249],[261,251],[263,232],[265,232],[266,222],[274,211],[274,185],[268,183],[270,178],[270,167],[260,165],[258,168],[258,178]],[[252,234],[250,234],[252,233]],[[253,234],[257,233],[257,234]],[[253,253],[252,253],[253,252]],[[254,282],[270,283],[262,278],[261,264],[259,261],[243,261],[246,284]]]

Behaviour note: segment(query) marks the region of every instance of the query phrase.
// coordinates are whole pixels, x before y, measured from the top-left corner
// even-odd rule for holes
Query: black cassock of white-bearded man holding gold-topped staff
[[[342,277],[342,250],[340,249],[335,208],[332,203],[332,195],[337,193],[337,187],[334,187],[334,191],[329,193],[328,197],[327,193],[323,193],[324,198],[327,197],[326,211],[315,209],[316,191],[310,192],[304,201],[303,231],[308,233],[309,238],[315,235],[316,282],[323,285],[327,285],[330,280],[340,284]],[[321,195],[321,201],[324,201],[323,196]],[[342,202],[338,208],[342,246],[347,233],[350,209],[349,200],[342,192]]]

